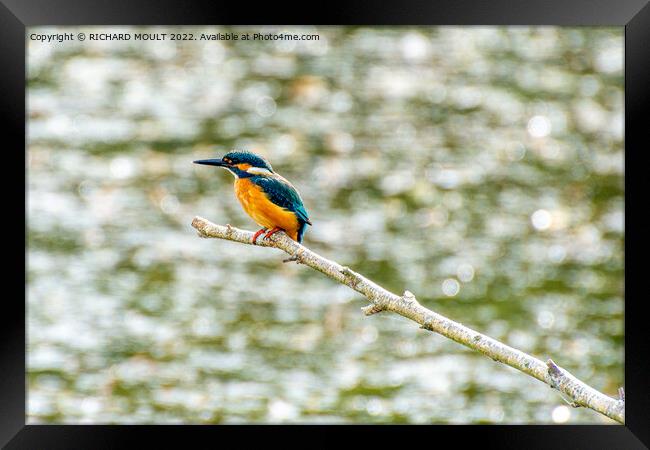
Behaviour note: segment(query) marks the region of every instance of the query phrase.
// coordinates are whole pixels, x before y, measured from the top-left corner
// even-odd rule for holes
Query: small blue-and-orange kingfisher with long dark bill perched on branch
[[[302,243],[307,225],[312,224],[302,198],[286,178],[273,171],[264,157],[249,151],[231,151],[220,159],[193,162],[223,167],[235,176],[237,200],[262,227],[253,235],[253,244],[260,235],[266,233],[264,239],[268,239],[278,231]]]

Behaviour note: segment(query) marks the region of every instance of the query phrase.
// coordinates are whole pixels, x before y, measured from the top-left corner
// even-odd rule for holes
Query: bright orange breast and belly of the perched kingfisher
[[[293,240],[298,240],[298,219],[296,215],[271,202],[257,186],[246,178],[235,180],[235,195],[244,211],[264,228],[282,228]]]

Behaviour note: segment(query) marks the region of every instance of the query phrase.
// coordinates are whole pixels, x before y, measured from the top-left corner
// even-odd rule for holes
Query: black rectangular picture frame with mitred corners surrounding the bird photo
[[[0,445],[7,449],[33,448],[124,448],[136,440],[163,448],[215,447],[224,443],[223,433],[243,442],[268,439],[268,433],[304,433],[301,445],[340,445],[338,431],[354,431],[364,445],[383,441],[389,434],[408,436],[408,445],[454,445],[468,439],[483,448],[585,448],[634,449],[650,445],[650,393],[648,390],[648,327],[642,308],[642,280],[646,264],[650,221],[645,218],[642,152],[650,105],[650,6],[648,0],[401,0],[370,5],[361,1],[338,1],[284,6],[277,2],[259,5],[240,2],[148,1],[148,0],[0,0],[0,114],[4,137],[2,193],[5,210],[5,294],[0,327]],[[349,25],[566,25],[625,27],[625,390],[626,425],[568,426],[399,426],[399,427],[277,427],[256,426],[102,426],[26,425],[25,398],[25,288],[26,248],[18,236],[27,236],[25,164],[19,147],[25,148],[25,28],[36,25],[204,25],[204,24],[349,24]],[[644,114],[645,113],[645,114]],[[22,190],[22,188],[25,188]],[[10,214],[11,209],[16,214]],[[18,220],[23,215],[25,222]],[[638,215],[638,217],[634,217]],[[15,252],[14,256],[10,252]],[[11,254],[11,256],[9,256]],[[21,257],[22,255],[22,257]],[[21,265],[17,261],[24,261]],[[25,284],[20,272],[23,272]],[[646,275],[647,276],[647,275]],[[18,292],[23,292],[19,295]],[[8,292],[8,291],[5,291]],[[317,438],[314,439],[314,438]],[[276,441],[291,443],[293,439]],[[238,442],[232,441],[232,442]],[[270,442],[270,441],[269,441]],[[406,442],[405,442],[406,443]],[[239,445],[239,444],[237,444]]]

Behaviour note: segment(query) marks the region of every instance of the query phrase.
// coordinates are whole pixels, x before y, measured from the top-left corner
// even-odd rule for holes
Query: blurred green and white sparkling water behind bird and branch
[[[623,384],[623,30],[31,28],[318,41],[28,41],[29,423],[612,423],[279,251],[232,177],[256,150],[305,243],[609,395]]]

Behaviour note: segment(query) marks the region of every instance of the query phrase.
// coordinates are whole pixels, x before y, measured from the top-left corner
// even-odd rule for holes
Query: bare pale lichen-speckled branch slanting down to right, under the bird
[[[226,239],[242,244],[252,244],[253,233],[230,225],[216,225],[201,217],[195,217],[192,226],[201,237]],[[255,245],[275,247],[288,253],[290,261],[296,261],[315,269],[331,279],[364,295],[371,305],[362,308],[366,315],[392,311],[418,323],[421,328],[436,332],[483,353],[495,361],[513,367],[548,384],[570,399],[574,407],[583,406],[605,416],[625,423],[625,397],[609,397],[588,386],[549,359],[546,363],[520,350],[503,344],[491,337],[474,331],[458,322],[423,307],[415,296],[405,291],[402,296],[387,291],[373,281],[354,272],[349,267],[330,261],[300,245],[280,232],[267,239],[258,239]],[[622,389],[620,390],[622,393]]]

